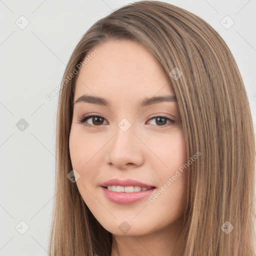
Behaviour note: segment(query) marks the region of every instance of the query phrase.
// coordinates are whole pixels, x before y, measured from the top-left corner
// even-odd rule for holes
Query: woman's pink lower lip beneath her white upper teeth
[[[101,189],[103,189],[105,196],[110,201],[119,203],[119,204],[130,204],[130,203],[139,201],[145,197],[148,197],[155,190],[155,188],[151,188],[145,191],[126,193],[126,192],[113,192],[103,186],[101,186]]]

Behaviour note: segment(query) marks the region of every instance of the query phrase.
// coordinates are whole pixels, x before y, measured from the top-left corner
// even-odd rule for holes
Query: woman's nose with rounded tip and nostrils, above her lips
[[[143,164],[143,143],[130,127],[123,131],[119,127],[107,143],[105,162],[118,169],[134,168]]]

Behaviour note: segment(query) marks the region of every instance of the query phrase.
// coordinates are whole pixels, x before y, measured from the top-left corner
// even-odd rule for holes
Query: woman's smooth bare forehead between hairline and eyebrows
[[[95,49],[96,54],[91,54]],[[131,40],[111,40],[87,52],[81,67],[75,99],[84,93],[113,100],[173,94],[166,74],[144,45]]]

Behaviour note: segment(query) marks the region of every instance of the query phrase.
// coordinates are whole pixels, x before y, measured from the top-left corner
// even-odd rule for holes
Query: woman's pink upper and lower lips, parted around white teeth
[[[119,185],[119,186],[140,186],[146,187],[148,190],[139,192],[113,192],[106,188],[108,185]],[[117,178],[109,179],[101,184],[101,189],[104,195],[112,202],[119,204],[130,204],[139,201],[145,197],[148,197],[155,189],[153,185],[145,184],[134,179],[120,180]]]

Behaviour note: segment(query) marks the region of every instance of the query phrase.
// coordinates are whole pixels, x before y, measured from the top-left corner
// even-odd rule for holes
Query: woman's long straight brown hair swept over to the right
[[[200,17],[148,0],[125,5],[95,22],[67,63],[58,99],[56,194],[48,255],[111,253],[112,234],[95,219],[67,175],[72,170],[68,141],[77,69],[86,64],[89,51],[116,39],[140,42],[159,61],[177,98],[187,155],[201,152],[187,173],[185,228],[177,244],[182,255],[255,255],[255,140],[235,60]],[[182,72],[178,79],[173,68]]]

